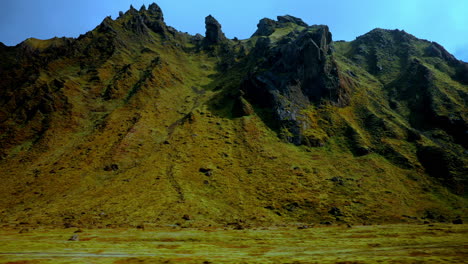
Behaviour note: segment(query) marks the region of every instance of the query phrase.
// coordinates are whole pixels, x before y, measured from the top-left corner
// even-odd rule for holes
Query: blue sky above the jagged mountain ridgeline
[[[104,17],[118,16],[144,0],[0,0],[0,41],[16,45],[29,37],[77,37]],[[468,0],[159,0],[168,25],[204,34],[204,18],[215,16],[228,37],[247,38],[263,17],[290,14],[326,24],[335,40],[353,40],[373,28],[404,29],[436,41],[468,61]]]

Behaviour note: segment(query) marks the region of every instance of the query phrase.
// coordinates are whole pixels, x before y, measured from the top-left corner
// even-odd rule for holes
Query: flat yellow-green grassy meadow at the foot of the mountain
[[[468,226],[4,229],[0,263],[468,263]]]

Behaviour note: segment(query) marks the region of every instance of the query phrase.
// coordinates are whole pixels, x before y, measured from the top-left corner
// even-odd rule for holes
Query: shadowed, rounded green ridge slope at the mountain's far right
[[[466,63],[437,43],[399,30],[375,29],[338,46],[382,83],[381,99],[409,129],[407,140],[414,141],[427,173],[463,193],[468,146]]]

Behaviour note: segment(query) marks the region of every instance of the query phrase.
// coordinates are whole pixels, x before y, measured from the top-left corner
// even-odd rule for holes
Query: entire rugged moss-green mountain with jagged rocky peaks
[[[182,33],[151,4],[0,45],[0,222],[466,220],[468,64],[400,30],[205,22]]]

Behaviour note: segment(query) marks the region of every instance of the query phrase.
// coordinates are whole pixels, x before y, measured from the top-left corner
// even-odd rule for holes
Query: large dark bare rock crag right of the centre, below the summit
[[[243,84],[246,98],[262,107],[273,108],[285,138],[294,144],[306,143],[308,128],[301,111],[310,103],[330,101],[339,106],[348,103],[348,87],[340,82],[326,26],[313,26],[283,45],[271,47],[268,38],[257,41],[253,53],[267,57]]]

